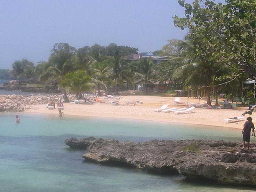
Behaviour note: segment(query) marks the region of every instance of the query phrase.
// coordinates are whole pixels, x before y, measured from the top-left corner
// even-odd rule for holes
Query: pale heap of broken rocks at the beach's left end
[[[0,112],[22,112],[29,109],[30,105],[48,104],[51,100],[58,102],[63,95],[0,95]],[[74,100],[75,95],[69,95]]]

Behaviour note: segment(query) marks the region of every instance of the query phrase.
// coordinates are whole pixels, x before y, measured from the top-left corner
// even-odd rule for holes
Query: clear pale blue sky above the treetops
[[[184,16],[178,0],[0,0],[0,13],[0,68],[6,69],[15,60],[48,61],[55,43],[153,52],[188,32],[173,24],[173,16]]]

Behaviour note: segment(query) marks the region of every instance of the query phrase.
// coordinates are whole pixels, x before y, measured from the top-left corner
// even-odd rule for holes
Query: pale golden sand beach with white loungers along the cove
[[[111,105],[109,103],[95,103],[95,104],[71,104],[64,103],[65,115],[73,116],[94,116],[94,117],[112,117],[112,118],[129,118],[129,119],[140,119],[147,121],[160,121],[160,122],[175,122],[175,123],[186,123],[186,124],[200,124],[200,125],[211,125],[220,127],[229,127],[243,129],[245,121],[226,123],[224,119],[239,117],[246,110],[244,107],[236,109],[205,109],[195,108],[194,113],[188,114],[174,114],[155,112],[154,109],[160,108],[163,104],[169,104],[168,107],[186,107],[188,103],[198,103],[198,99],[192,99],[187,97],[180,97],[180,100],[184,102],[184,105],[176,105],[174,103],[174,97],[163,97],[163,96],[123,96],[120,102],[127,100],[139,100],[142,101],[142,105]],[[200,100],[200,103],[206,102]],[[214,104],[214,102],[213,102]],[[45,105],[31,105],[31,109],[27,109],[29,113],[44,113],[44,114],[56,114],[58,110],[49,110]],[[244,119],[249,115],[245,115]],[[251,115],[252,118],[254,113]]]

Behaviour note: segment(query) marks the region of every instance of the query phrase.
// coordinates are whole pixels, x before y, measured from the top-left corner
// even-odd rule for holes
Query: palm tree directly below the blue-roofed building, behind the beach
[[[142,58],[139,61],[138,71],[134,74],[134,78],[139,80],[139,83],[143,83],[146,93],[148,93],[148,84],[152,84],[153,67],[154,63],[150,58]]]

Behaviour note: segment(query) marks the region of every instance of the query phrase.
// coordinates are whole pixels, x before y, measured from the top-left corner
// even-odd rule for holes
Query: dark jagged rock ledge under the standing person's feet
[[[249,153],[241,143],[205,140],[131,141],[69,139],[72,148],[87,148],[86,160],[122,164],[162,174],[182,174],[223,183],[256,185],[255,146]],[[84,144],[83,144],[84,143]]]

